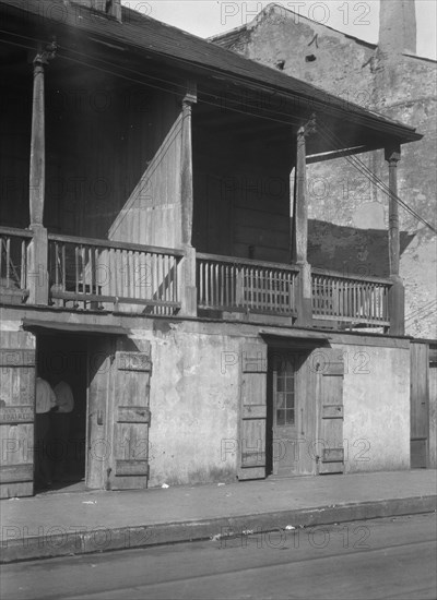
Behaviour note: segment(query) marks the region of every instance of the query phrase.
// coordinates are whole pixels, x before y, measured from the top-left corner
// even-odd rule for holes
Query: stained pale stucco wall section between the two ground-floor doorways
[[[239,371],[223,369],[224,352],[239,340],[199,335],[178,325],[137,332],[151,340],[150,485],[235,480],[236,455],[222,454],[237,440]]]

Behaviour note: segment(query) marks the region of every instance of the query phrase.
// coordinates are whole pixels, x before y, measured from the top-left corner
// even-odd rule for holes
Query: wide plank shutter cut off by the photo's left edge
[[[0,497],[34,493],[35,338],[1,332]]]

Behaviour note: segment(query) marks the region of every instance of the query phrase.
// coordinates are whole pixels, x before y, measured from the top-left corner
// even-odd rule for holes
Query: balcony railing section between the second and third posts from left
[[[288,265],[197,254],[198,307],[294,315],[297,274]]]

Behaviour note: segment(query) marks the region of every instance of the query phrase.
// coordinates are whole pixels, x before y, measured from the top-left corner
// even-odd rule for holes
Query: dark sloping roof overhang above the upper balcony
[[[118,69],[120,73],[123,70],[128,73],[135,59],[135,64],[142,65],[140,69],[146,76],[147,64],[155,61],[174,67],[175,76],[178,71],[178,76],[202,77],[209,85],[214,82],[218,85],[228,82],[235,85],[236,91],[247,88],[262,91],[273,97],[281,96],[304,113],[322,111],[323,116],[336,123],[350,123],[352,128],[357,127],[368,132],[369,137],[376,136],[378,147],[383,147],[385,140],[402,144],[422,139],[414,128],[346,103],[307,82],[130,9],[123,8],[123,22],[119,23],[84,7],[60,1],[39,0],[23,3],[22,0],[2,0],[0,4],[3,14],[10,14],[29,25],[34,32],[29,37],[31,48],[35,47],[36,37],[42,39],[47,36],[47,41],[50,41],[50,36],[56,35],[59,36],[59,57],[72,60],[75,57],[78,61],[78,49],[82,39],[92,45],[90,48],[92,47],[93,51],[84,55],[90,62],[104,60],[106,57],[111,69]],[[4,39],[8,39],[8,36]],[[21,39],[21,44],[24,41]],[[362,143],[367,142],[363,140]],[[329,149],[340,147],[338,144],[334,146]],[[317,153],[318,149],[315,147],[314,152]]]

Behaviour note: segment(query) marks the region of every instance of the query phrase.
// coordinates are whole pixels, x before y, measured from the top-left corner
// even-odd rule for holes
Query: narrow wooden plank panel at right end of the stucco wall
[[[425,469],[428,463],[428,401],[429,357],[427,344],[412,344],[410,347],[410,454],[411,468]]]

